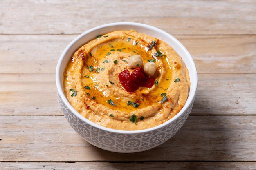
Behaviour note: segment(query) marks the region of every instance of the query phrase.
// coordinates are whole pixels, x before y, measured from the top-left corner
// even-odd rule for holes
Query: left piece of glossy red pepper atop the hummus
[[[124,70],[118,75],[119,81],[127,92],[136,91],[139,86],[132,81],[132,77],[128,70]]]

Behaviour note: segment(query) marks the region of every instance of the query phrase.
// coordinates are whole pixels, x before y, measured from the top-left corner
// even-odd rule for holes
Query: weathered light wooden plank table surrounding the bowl
[[[0,0],[1,170],[256,169],[256,2]],[[58,104],[55,68],[76,36],[139,22],[180,40],[198,69],[198,92],[177,134],[120,154],[84,141]]]

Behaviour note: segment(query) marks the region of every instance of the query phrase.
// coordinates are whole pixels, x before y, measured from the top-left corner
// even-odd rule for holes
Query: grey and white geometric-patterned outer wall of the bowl
[[[191,112],[194,102],[193,100],[187,110],[184,111],[183,115],[178,117],[171,124],[149,132],[122,134],[101,130],[85,123],[70,111],[59,94],[58,100],[68,123],[85,141],[104,150],[122,153],[141,152],[155,148],[166,142],[183,126]]]

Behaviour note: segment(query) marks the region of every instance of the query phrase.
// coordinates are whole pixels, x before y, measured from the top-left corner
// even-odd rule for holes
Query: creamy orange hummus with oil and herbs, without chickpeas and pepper
[[[129,58],[140,55],[143,63],[155,62],[152,87],[127,92],[119,73]],[[141,66],[143,67],[143,65]],[[64,92],[86,119],[117,130],[141,130],[175,116],[189,95],[188,70],[166,42],[134,30],[99,35],[81,46],[64,72]]]

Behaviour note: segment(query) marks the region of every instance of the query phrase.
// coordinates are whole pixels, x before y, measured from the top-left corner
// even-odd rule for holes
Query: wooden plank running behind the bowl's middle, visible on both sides
[[[255,115],[256,74],[198,74],[191,115]],[[0,74],[0,115],[63,115],[54,73]]]

